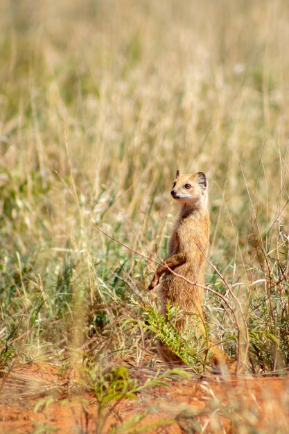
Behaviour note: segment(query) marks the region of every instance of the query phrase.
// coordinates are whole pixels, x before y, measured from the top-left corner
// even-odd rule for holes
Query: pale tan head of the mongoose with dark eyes
[[[207,205],[207,177],[203,172],[182,174],[177,171],[170,194],[180,205]]]

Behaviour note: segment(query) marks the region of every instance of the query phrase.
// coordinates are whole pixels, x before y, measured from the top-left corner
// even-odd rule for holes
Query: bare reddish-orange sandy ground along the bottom
[[[76,393],[53,365],[18,367],[1,381],[1,434],[99,433],[94,394]],[[103,433],[287,433],[289,379],[168,380],[105,414]]]

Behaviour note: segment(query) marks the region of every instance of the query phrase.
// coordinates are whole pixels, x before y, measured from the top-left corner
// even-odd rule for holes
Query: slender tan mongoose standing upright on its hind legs
[[[170,300],[172,305],[177,304],[183,311],[182,319],[176,324],[182,331],[184,324],[188,324],[189,315],[196,314],[201,323],[201,333],[204,331],[202,312],[203,288],[194,286],[184,279],[177,277],[168,270],[168,267],[196,284],[204,285],[204,268],[209,248],[210,217],[208,209],[208,183],[203,172],[192,174],[176,173],[171,196],[179,205],[181,211],[175,223],[170,238],[168,259],[163,261],[155,271],[152,283],[148,289],[153,289],[160,283],[162,313],[166,313],[166,305]],[[188,313],[186,315],[186,313]],[[191,315],[192,318],[192,315]],[[190,319],[189,319],[190,320]],[[197,326],[198,327],[198,326]],[[198,327],[200,331],[200,328]],[[211,342],[208,342],[211,347]],[[159,342],[159,353],[164,361],[181,363],[162,342]],[[227,354],[218,347],[211,349],[213,365],[220,366],[228,363]]]

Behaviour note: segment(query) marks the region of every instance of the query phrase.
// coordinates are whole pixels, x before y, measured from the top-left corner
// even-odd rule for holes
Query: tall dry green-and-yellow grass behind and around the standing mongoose
[[[177,168],[209,179],[206,281],[231,306],[205,293],[213,340],[249,372],[288,367],[288,18],[285,0],[1,2],[3,375],[157,369],[144,257],[166,256]]]

